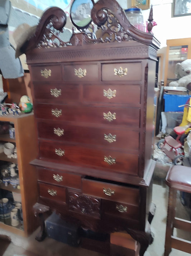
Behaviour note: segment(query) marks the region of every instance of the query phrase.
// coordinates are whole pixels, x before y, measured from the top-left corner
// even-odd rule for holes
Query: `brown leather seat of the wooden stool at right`
[[[191,193],[191,167],[174,165],[166,176],[168,187]]]

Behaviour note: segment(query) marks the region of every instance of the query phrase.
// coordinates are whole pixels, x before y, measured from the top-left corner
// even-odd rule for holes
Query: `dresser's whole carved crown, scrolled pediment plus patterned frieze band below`
[[[58,52],[63,55],[64,61],[72,61],[78,58],[78,55],[81,55],[82,61],[89,60],[88,55],[95,60],[109,59],[108,55],[112,55],[115,59],[117,53],[118,59],[137,57],[156,60],[159,41],[151,32],[142,32],[130,24],[124,10],[115,0],[99,0],[92,8],[91,18],[94,26],[98,28],[95,33],[93,31],[90,35],[73,31],[70,41],[64,42],[60,35],[64,37],[62,29],[66,24],[66,14],[60,8],[49,8],[40,19],[34,35],[20,47],[20,50],[27,55],[28,64],[40,63],[40,59],[48,59],[43,57],[43,54]],[[149,21],[152,21],[152,18]],[[127,48],[129,50],[125,50]],[[91,54],[91,51],[94,53]],[[37,56],[39,54],[40,57]],[[70,58],[67,54],[70,54]]]

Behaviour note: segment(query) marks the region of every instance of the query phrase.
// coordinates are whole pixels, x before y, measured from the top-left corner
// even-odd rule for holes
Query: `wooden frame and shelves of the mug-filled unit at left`
[[[1,116],[0,121],[14,123],[15,139],[10,139],[5,134],[0,135],[0,140],[15,142],[17,159],[8,158],[2,153],[0,154],[0,160],[18,163],[20,189],[14,189],[11,185],[5,187],[4,184],[0,184],[0,188],[21,194],[24,230],[5,225],[4,223],[0,223],[0,228],[26,237],[37,228],[37,221],[35,220],[32,208],[38,196],[37,175],[35,168],[29,164],[37,156],[37,135],[34,127],[34,115],[33,113],[21,113],[19,116],[8,114],[7,116]]]

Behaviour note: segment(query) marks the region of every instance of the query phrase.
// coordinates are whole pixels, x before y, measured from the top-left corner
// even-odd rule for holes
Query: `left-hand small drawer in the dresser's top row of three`
[[[47,71],[49,71],[49,75],[47,75]],[[32,76],[33,81],[61,81],[62,68],[61,65],[33,66]]]

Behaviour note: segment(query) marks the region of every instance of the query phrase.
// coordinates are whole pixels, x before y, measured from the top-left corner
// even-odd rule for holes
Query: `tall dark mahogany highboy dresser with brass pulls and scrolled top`
[[[38,130],[35,213],[48,206],[83,229],[126,230],[143,255],[151,242],[159,42],[134,28],[115,0],[98,1],[91,17],[99,38],[73,32],[63,42],[66,15],[50,8],[23,46]]]

